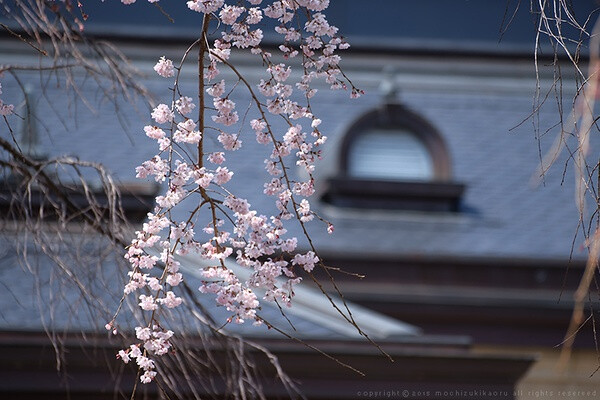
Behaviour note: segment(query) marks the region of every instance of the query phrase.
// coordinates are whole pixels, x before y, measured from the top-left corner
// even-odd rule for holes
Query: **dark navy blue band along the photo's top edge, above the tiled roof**
[[[589,25],[591,13],[597,15],[593,0],[568,4],[582,26]],[[189,12],[185,2],[158,5],[162,11],[144,0],[129,6],[118,1],[86,2],[83,10],[89,16],[87,29],[93,33],[171,39],[198,34],[202,16]],[[355,47],[364,49],[531,53],[537,16],[530,9],[529,2],[507,0],[333,0],[326,12]],[[262,24],[268,38],[272,24],[266,20]],[[572,38],[580,36],[566,23],[563,30]]]

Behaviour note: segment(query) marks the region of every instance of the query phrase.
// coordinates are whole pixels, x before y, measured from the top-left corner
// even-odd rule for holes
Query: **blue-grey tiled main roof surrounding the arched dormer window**
[[[31,82],[36,79],[32,76]],[[166,93],[166,81],[157,78],[146,83],[155,93],[161,90]],[[184,90],[187,87],[193,93],[193,81],[184,79]],[[16,87],[4,79],[3,89],[8,98]],[[357,101],[346,100],[347,94],[327,90],[321,90],[313,99],[315,113],[323,119],[322,131],[330,137],[327,152],[334,156],[333,160],[336,143],[348,124],[381,104],[376,86],[367,89],[367,95]],[[121,117],[117,118],[114,106],[104,102],[92,113],[81,105],[77,108],[70,105],[58,90],[61,89],[47,88],[52,107],[39,96],[36,107],[48,128],[45,131],[40,127],[47,153],[101,161],[121,182],[135,180],[135,167],[154,154],[155,144],[141,133],[143,125],[150,122],[147,110],[142,107],[136,114],[125,111],[130,110],[126,108],[129,106],[119,106]],[[91,87],[85,88],[84,93],[101,100]],[[240,110],[248,102],[243,94],[234,94],[233,99]],[[532,176],[539,166],[538,143],[531,122],[519,125],[532,109],[530,91],[472,87],[436,90],[431,85],[420,89],[413,84],[402,91],[400,100],[427,118],[446,141],[454,180],[466,185],[462,212],[352,210],[313,201],[313,208],[336,227],[335,234],[328,235],[323,226],[310,224],[313,238],[323,253],[568,259],[578,221],[572,172],[567,169],[561,184],[566,162],[563,154],[546,175],[545,184],[532,185]],[[75,116],[77,126],[65,129],[53,109],[60,110],[63,117]],[[543,127],[552,126],[558,121],[555,106],[550,103],[542,108],[539,118]],[[279,132],[285,130],[277,119],[273,123]],[[548,148],[555,132],[543,138],[543,148]],[[242,151],[227,156],[235,172],[231,187],[259,211],[268,211],[273,208],[273,200],[262,194],[259,181],[267,179],[262,167],[267,149],[257,144],[247,131],[241,139]],[[216,139],[210,138],[207,147],[216,144]],[[323,161],[319,176],[322,179],[334,176],[335,168],[334,161]],[[300,234],[297,228],[290,230],[292,234]],[[580,238],[575,241],[576,258],[585,257],[579,251],[581,243]]]

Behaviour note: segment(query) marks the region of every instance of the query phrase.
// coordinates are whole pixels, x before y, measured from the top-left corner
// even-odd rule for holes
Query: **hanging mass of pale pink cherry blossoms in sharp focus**
[[[122,2],[131,4],[135,0]],[[248,3],[245,7],[242,2],[226,5],[223,0],[187,2],[191,11],[218,18],[220,23],[221,35],[205,53],[208,65],[200,85],[204,88],[200,96],[212,98],[211,120],[216,126],[208,128],[203,117],[192,116],[196,104],[192,97],[182,94],[178,84],[183,60],[177,67],[172,60],[161,57],[154,66],[159,76],[175,78],[173,101],[158,104],[151,113],[152,123],[144,127],[145,135],[156,141],[157,154],[136,168],[136,176],[164,183],[165,191],[157,196],[155,210],[148,214],[147,222],[127,249],[125,258],[132,269],[124,288],[125,295],[137,293],[139,307],[149,313],[150,322],[136,327],[140,343],[119,352],[124,362],[136,360],[144,371],[144,383],[156,375],[152,357],[172,347],[173,332],[161,328],[157,316],[162,308],[184,303],[175,294],[183,280],[178,255],[193,253],[206,260],[209,266],[201,271],[204,280],[199,289],[214,294],[217,304],[231,313],[228,322],[235,323],[263,323],[258,314],[261,300],[291,306],[294,286],[302,280],[299,270],[310,273],[320,263],[314,249],[297,252],[298,239],[290,237],[286,228],[289,220],[305,224],[317,216],[307,198],[314,193],[315,161],[321,157],[327,137],[319,130],[321,120],[311,111],[309,99],[317,93],[312,84],[322,79],[331,89],[350,85],[351,97],[362,92],[339,68],[336,51],[348,44],[337,36],[338,29],[322,13],[329,0],[278,0],[262,7],[262,0]],[[301,68],[294,71],[274,61],[275,56],[260,47],[264,35],[257,24],[265,17],[277,21],[275,31],[282,41],[279,56],[285,60],[299,57]],[[298,29],[300,20],[304,21],[303,29]],[[257,86],[242,79],[231,66],[232,49],[250,49],[265,66],[266,75]],[[217,79],[224,67],[232,68],[238,75],[237,82]],[[234,129],[240,124],[240,116],[231,93],[238,86],[246,86],[256,116],[249,126]],[[300,95],[295,97],[304,101],[294,100],[295,92]],[[207,109],[200,109],[200,115]],[[282,117],[288,127],[275,130],[269,122],[271,116]],[[242,148],[247,130],[254,132],[252,136],[258,143],[268,146],[264,160],[268,178],[263,192],[273,198],[277,209],[274,215],[252,209],[246,199],[228,188],[234,178],[234,171],[227,166],[228,152]],[[217,151],[205,151],[204,139],[209,136],[219,143]],[[286,165],[290,163],[303,169],[307,178],[301,180],[289,174]],[[197,199],[197,207],[187,213],[185,220],[175,220],[171,211],[191,198]],[[207,219],[199,222],[203,217]],[[201,229],[196,229],[197,225]],[[333,231],[331,224],[327,231]],[[239,266],[251,271],[248,280],[240,280],[227,268],[228,257],[235,257]],[[257,289],[264,292],[262,299]],[[108,328],[112,329],[113,324],[114,320]]]

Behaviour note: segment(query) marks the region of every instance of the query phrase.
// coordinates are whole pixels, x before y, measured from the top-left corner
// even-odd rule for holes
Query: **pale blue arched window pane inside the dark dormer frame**
[[[353,178],[427,181],[434,177],[429,150],[409,130],[367,130],[353,140],[348,157],[348,174]]]

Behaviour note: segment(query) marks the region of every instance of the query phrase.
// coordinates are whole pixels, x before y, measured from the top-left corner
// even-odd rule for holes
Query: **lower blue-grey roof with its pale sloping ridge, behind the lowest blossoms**
[[[61,257],[66,260],[67,268],[62,269],[34,249],[30,247],[27,255],[17,252],[11,243],[4,243],[0,249],[0,282],[4,286],[0,291],[0,331],[102,332],[118,307],[125,272],[117,267],[112,257],[103,259],[98,255],[90,259],[89,265],[79,265],[69,258],[66,250],[61,252]],[[181,262],[186,282],[196,289],[200,286],[199,265],[203,261],[199,257],[186,256]],[[73,276],[82,282],[82,286],[74,284],[67,270],[75,271]],[[326,302],[323,296],[313,292],[309,288],[299,288],[296,305],[286,311],[286,318],[275,304],[267,302],[263,302],[259,314],[277,329],[301,339],[361,339],[356,329],[338,317],[329,305],[322,304]],[[126,301],[132,298],[128,296]],[[198,293],[196,298],[205,310],[210,310],[210,317],[217,327],[225,325],[230,313],[215,306],[214,295]],[[373,339],[409,338],[419,333],[418,329],[392,318],[359,306],[351,305],[351,308],[356,320]],[[117,322],[121,329],[132,329],[135,320],[131,311],[124,307]],[[177,329],[183,327],[189,334],[196,329],[207,329],[189,313],[174,313],[169,324],[175,324]],[[265,325],[256,327],[249,322],[227,324],[223,330],[242,336],[282,337]]]

